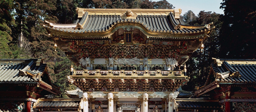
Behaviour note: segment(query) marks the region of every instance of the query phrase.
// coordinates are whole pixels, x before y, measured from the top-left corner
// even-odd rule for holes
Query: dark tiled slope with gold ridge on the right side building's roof
[[[215,81],[217,82],[256,82],[255,59],[217,59],[211,68],[216,74]]]

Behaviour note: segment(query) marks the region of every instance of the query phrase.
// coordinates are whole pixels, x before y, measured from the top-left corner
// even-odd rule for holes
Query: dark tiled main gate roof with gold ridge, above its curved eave
[[[67,33],[86,33],[86,32],[104,32],[110,30],[119,23],[136,23],[151,32],[169,32],[169,33],[197,33],[206,30],[211,30],[210,25],[185,25],[180,12],[175,10],[149,10],[151,13],[145,13],[139,9],[81,9],[78,11],[77,21],[73,24],[56,24],[45,21],[48,25],[45,26],[49,31],[62,31]],[[101,10],[99,12],[98,10]],[[133,10],[136,14],[133,18],[123,18],[122,11]],[[143,9],[144,10],[144,9]],[[98,11],[98,12],[97,12]],[[160,11],[160,13],[152,13]]]

